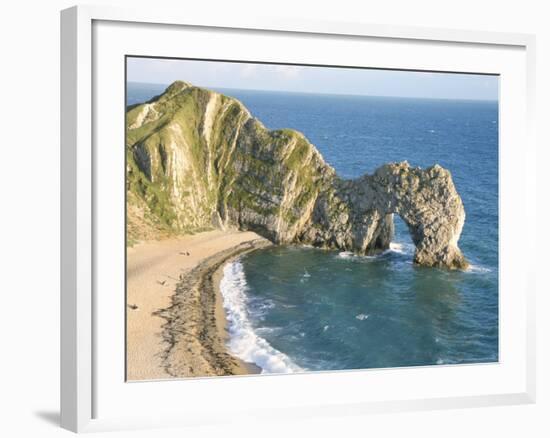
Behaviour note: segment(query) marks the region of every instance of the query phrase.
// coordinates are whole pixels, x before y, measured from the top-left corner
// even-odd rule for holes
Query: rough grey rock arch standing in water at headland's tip
[[[386,164],[373,175],[351,181],[347,190],[351,209],[358,209],[356,217],[381,218],[370,235],[356,233],[362,237],[356,247],[359,243],[366,252],[389,247],[393,214],[398,214],[416,247],[415,263],[451,269],[468,266],[458,247],[466,214],[448,170],[437,164],[425,170],[407,162]],[[352,228],[358,227],[362,223]]]

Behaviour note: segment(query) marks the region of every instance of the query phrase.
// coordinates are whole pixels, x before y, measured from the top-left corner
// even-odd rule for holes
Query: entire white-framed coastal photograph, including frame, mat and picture
[[[532,36],[61,31],[63,427],[534,401]]]

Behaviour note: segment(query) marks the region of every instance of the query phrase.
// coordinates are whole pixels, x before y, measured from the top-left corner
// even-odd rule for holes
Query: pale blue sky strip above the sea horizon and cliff
[[[184,80],[211,88],[498,100],[496,76],[156,58],[127,62],[130,82]]]

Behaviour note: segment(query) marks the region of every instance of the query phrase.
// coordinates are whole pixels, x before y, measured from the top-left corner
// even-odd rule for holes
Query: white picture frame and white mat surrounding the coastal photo
[[[104,27],[101,27],[102,23],[105,23]],[[501,93],[504,93],[506,97],[501,100],[503,108],[501,122],[504,122],[504,125],[501,124],[501,126],[506,128],[507,123],[513,124],[509,130],[506,128],[505,132],[501,133],[500,190],[502,199],[510,200],[510,202],[504,202],[500,209],[501,215],[504,214],[507,218],[500,230],[503,237],[500,240],[501,250],[513,254],[520,250],[525,252],[528,250],[525,248],[526,246],[528,248],[535,246],[534,213],[529,209],[516,208],[515,211],[512,211],[506,207],[507,205],[511,207],[511,201],[515,199],[523,199],[523,202],[528,203],[526,205],[535,204],[535,175],[534,172],[527,173],[526,170],[527,165],[535,162],[536,152],[532,127],[535,93],[534,36],[245,16],[238,21],[227,22],[224,17],[216,17],[216,15],[193,16],[184,10],[162,11],[157,8],[127,10],[103,6],[78,6],[66,9],[61,13],[62,427],[75,432],[83,432],[203,424],[212,422],[213,417],[216,418],[216,422],[223,422],[229,421],[229,419],[244,421],[251,416],[256,418],[280,418],[281,416],[299,418],[312,415],[359,415],[380,411],[398,412],[534,402],[535,273],[532,272],[533,268],[527,262],[518,262],[513,259],[513,255],[510,255],[509,260],[507,258],[501,260],[501,266],[511,266],[513,263],[515,267],[514,279],[503,277],[502,273],[500,276],[501,287],[504,285],[511,292],[515,291],[516,294],[501,295],[500,321],[504,329],[504,335],[501,337],[501,349],[504,348],[507,351],[506,348],[509,347],[510,354],[505,354],[505,358],[494,368],[487,367],[487,365],[468,365],[462,366],[462,368],[424,367],[423,369],[312,373],[295,376],[193,379],[193,381],[187,382],[146,382],[130,384],[133,385],[131,391],[124,394],[125,382],[120,381],[120,370],[112,375],[107,375],[109,372],[105,370],[109,368],[107,362],[109,355],[98,354],[99,351],[113,352],[113,357],[116,356],[113,363],[120,361],[117,356],[117,349],[120,349],[120,342],[116,343],[118,335],[114,337],[112,346],[107,347],[105,346],[106,338],[102,334],[106,328],[116,329],[119,327],[118,323],[111,323],[108,318],[101,316],[106,315],[102,312],[104,306],[109,303],[106,300],[98,301],[97,299],[97,295],[100,293],[98,291],[104,290],[102,285],[108,284],[110,280],[110,274],[106,273],[104,269],[102,270],[101,267],[102,264],[107,263],[107,260],[103,257],[105,253],[102,252],[105,245],[98,243],[98,235],[105,233],[100,230],[98,234],[101,217],[98,213],[100,209],[97,209],[97,206],[103,202],[104,198],[102,193],[105,192],[101,189],[102,184],[111,181],[109,178],[117,176],[110,173],[110,164],[105,161],[105,155],[100,154],[98,157],[94,149],[98,139],[109,135],[103,128],[98,129],[96,125],[99,123],[100,126],[103,126],[101,125],[102,113],[100,112],[98,115],[98,108],[104,105],[102,93],[120,88],[122,76],[116,76],[116,84],[111,84],[111,88],[98,85],[100,81],[104,80],[101,78],[108,76],[108,71],[102,70],[105,62],[98,63],[98,65],[101,64],[101,67],[98,67],[95,62],[98,59],[103,60],[101,56],[104,52],[106,60],[111,59],[109,58],[111,56],[114,57],[112,59],[120,61],[120,53],[129,54],[125,52],[122,44],[118,44],[124,42],[123,35],[126,32],[134,32],[132,35],[136,36],[139,35],[140,29],[145,28],[151,32],[151,35],[153,33],[164,35],[159,38],[166,38],[167,34],[178,32],[178,29],[186,29],[189,32],[199,31],[202,35],[233,31],[237,32],[239,37],[246,38],[262,39],[265,37],[275,40],[295,38],[296,41],[300,38],[307,38],[310,40],[310,44],[315,44],[317,38],[334,38],[338,40],[338,44],[351,44],[351,42],[362,44],[368,40],[373,44],[383,42],[396,46],[395,50],[402,52],[402,46],[407,45],[421,48],[422,53],[425,52],[425,56],[429,56],[430,52],[433,52],[432,55],[436,55],[432,56],[432,61],[399,61],[402,64],[396,61],[395,64],[388,65],[392,68],[400,68],[405,65],[405,62],[417,62],[417,64],[410,65],[416,65],[416,68],[429,71],[472,71],[472,69],[477,70],[476,65],[478,65],[479,71],[501,74],[502,71],[509,68],[506,70],[508,72],[506,77],[510,78],[509,82],[504,84],[504,90],[501,89]],[[105,36],[102,36],[102,32],[105,32]],[[108,50],[102,42],[106,38],[109,38],[111,42],[112,53],[110,54],[107,54]],[[155,37],[147,50],[153,50],[159,41],[160,39],[157,41]],[[134,44],[139,44],[139,41]],[[281,42],[281,44],[283,43]],[[449,56],[439,56],[441,50],[447,50],[448,47],[451,47],[449,49],[451,51],[454,50],[452,47],[457,50],[464,49],[466,57],[469,56],[466,53],[469,50],[482,49],[483,53],[487,54],[494,52],[499,60],[492,64],[489,62],[490,60],[483,60],[479,57],[476,60],[473,57],[469,64],[462,65],[462,55],[454,57],[454,60],[451,60]],[[164,50],[169,51],[170,48]],[[256,59],[254,55],[251,56],[252,58],[247,59]],[[323,56],[329,59],[335,54],[327,53]],[[517,62],[518,60],[520,62]],[[421,62],[424,64],[419,65]],[[441,68],[438,68],[438,65]],[[113,66],[114,64],[109,65],[109,68]],[[118,71],[119,64],[113,68]],[[120,93],[120,90],[115,92],[115,95],[118,96],[117,93]],[[510,107],[510,111],[516,112],[509,112],[508,107]],[[123,108],[124,101],[120,101],[118,107],[120,120],[124,120]],[[512,115],[519,117],[513,121]],[[123,126],[123,124],[120,125],[121,132],[124,129]],[[519,170],[514,174],[517,180],[515,186],[512,186],[508,177],[511,176],[511,166],[514,163],[518,164]],[[116,163],[111,164],[113,164],[113,168],[116,167],[114,166]],[[534,169],[535,166],[530,168]],[[114,202],[116,199],[113,198],[112,201]],[[123,208],[121,205],[120,209],[123,210]],[[518,223],[524,224],[521,236],[515,235],[513,231],[514,226]],[[124,247],[121,250],[123,251]],[[114,287],[114,290],[118,289]],[[124,295],[124,289],[120,289],[120,295]],[[513,308],[517,310],[518,306],[517,333],[507,336],[506,328],[510,320],[510,312]],[[503,345],[503,342],[506,344]],[[113,367],[116,368],[115,365]],[[500,373],[499,370],[507,371]],[[391,372],[391,375],[388,372]],[[490,376],[496,377],[491,379]],[[439,385],[441,388],[439,392],[435,390],[430,394],[426,392],[428,395],[414,388],[410,391],[405,390],[408,381],[422,382],[423,379],[429,381],[432,378],[441,382],[458,379],[455,382],[457,388],[454,391],[447,391],[445,387]],[[345,389],[346,385],[353,385],[354,380],[358,381],[358,379],[361,379],[361,382],[370,382],[373,395],[366,397],[364,394],[355,394],[349,389]],[[461,381],[461,379],[463,380]],[[467,381],[475,382],[476,379],[479,380],[478,391],[474,391],[466,384]],[[112,382],[115,380],[117,382],[115,386],[119,389],[113,389],[112,393],[107,392],[110,391],[107,388],[113,386]],[[389,388],[384,383],[388,380],[394,381],[398,388]],[[491,382],[484,386],[483,382],[488,381]],[[143,412],[135,413],[133,416],[122,408],[117,408],[117,406],[123,405],[121,397],[127,397],[125,400],[132,399],[134,403],[139,403],[140,397],[143,396],[145,403],[145,400],[154,397],[154,395],[158,396],[163,391],[166,394],[170,393],[169,397],[174,397],[174,394],[177,394],[178,386],[181,387],[181,385],[187,385],[189,390],[198,387],[206,388],[206,391],[237,390],[248,394],[248,396],[254,392],[269,393],[269,391],[275,391],[275,387],[292,385],[292,387],[299,388],[297,390],[300,391],[300,394],[306,395],[297,396],[294,404],[285,402],[282,396],[279,397],[275,394],[270,404],[263,404],[262,407],[260,407],[262,403],[255,400],[252,405],[243,404],[240,409],[236,408],[232,411],[225,411],[219,406],[209,406],[209,412],[206,411],[204,402],[197,399],[196,406],[194,406],[195,411],[187,415],[183,414],[183,410],[178,406],[168,411],[162,404],[145,406]],[[336,391],[334,389],[336,385],[344,389]],[[460,386],[462,386],[461,390],[458,388]],[[323,391],[317,391],[318,388],[323,388]],[[105,394],[113,400],[111,405],[106,401]],[[133,412],[138,412],[138,410]],[[215,415],[212,415],[212,412]]]

